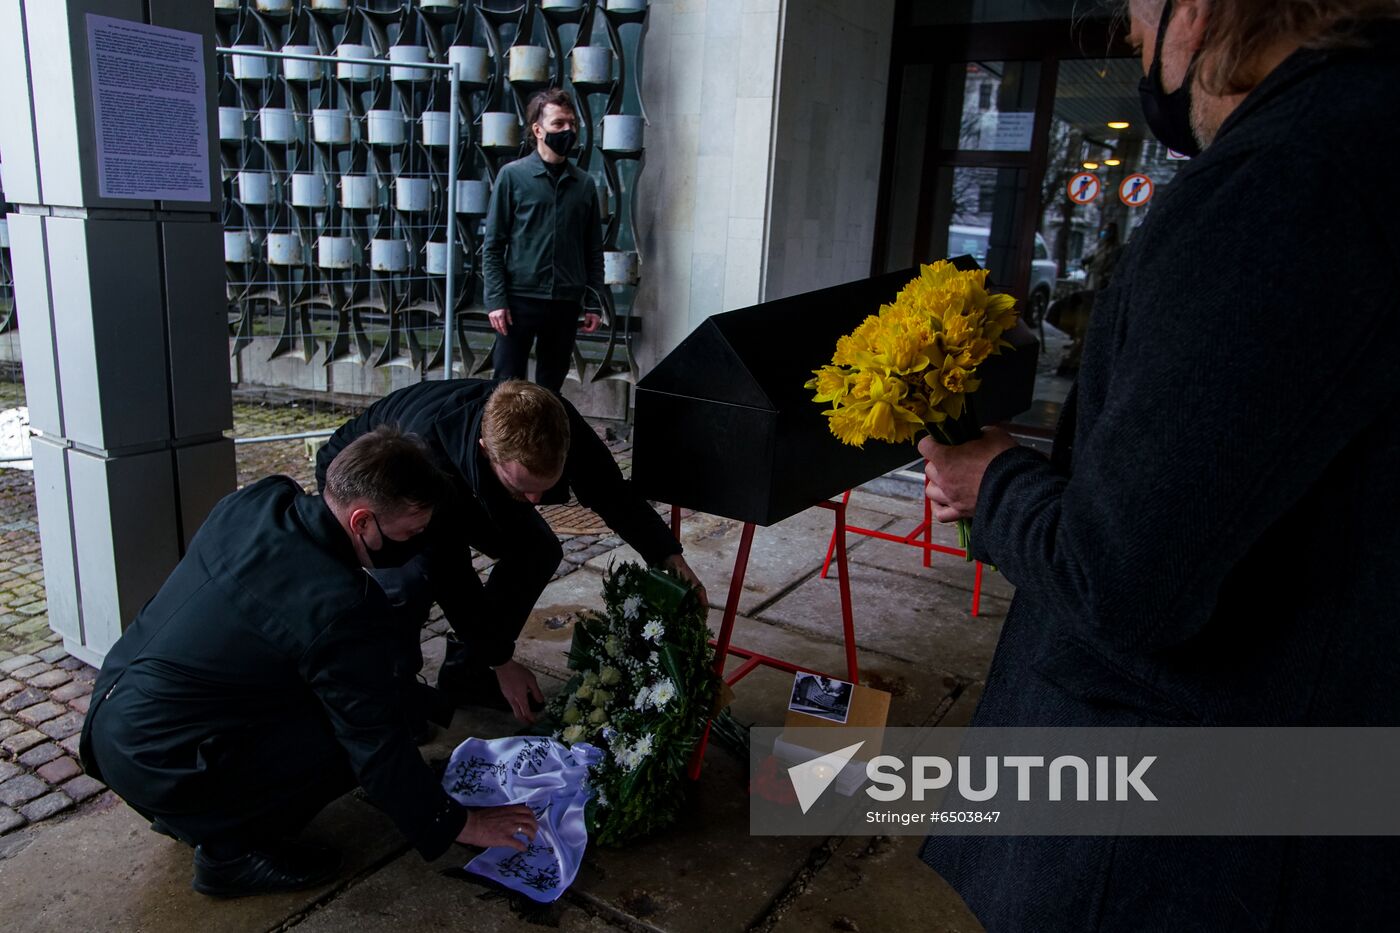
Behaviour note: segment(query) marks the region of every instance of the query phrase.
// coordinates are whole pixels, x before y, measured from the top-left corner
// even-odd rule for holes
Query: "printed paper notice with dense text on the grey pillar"
[[[98,193],[209,200],[204,38],[87,14]]]

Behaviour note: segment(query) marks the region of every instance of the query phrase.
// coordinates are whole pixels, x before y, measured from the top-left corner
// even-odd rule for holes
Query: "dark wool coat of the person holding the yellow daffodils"
[[[974,724],[1400,724],[1396,48],[1296,53],[1159,192],[1051,458],[983,479],[1016,595]],[[1400,871],[1359,839],[924,857],[993,930],[1380,929]]]

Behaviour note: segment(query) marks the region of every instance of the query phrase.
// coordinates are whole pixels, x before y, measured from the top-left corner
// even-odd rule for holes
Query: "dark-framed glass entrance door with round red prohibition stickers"
[[[1093,293],[1182,160],[1142,126],[1141,66],[1112,22],[1040,6],[993,3],[1007,18],[986,20],[916,1],[897,25],[872,270],[959,255],[988,269],[1040,332],[1016,420],[1049,437]]]

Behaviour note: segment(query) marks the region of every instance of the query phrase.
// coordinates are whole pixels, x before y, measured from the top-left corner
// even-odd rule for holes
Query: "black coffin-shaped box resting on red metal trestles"
[[[976,269],[970,258],[955,261]],[[647,499],[771,525],[913,459],[913,444],[841,444],[812,391],[837,338],[895,300],[918,269],[766,301],[708,318],[637,384],[633,485]],[[1037,343],[979,367],[969,396],[984,424],[1030,406]]]

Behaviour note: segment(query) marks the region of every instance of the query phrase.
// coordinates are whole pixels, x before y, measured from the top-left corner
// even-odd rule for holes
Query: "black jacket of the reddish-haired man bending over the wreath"
[[[454,478],[458,496],[472,506],[441,509],[434,514],[427,531],[434,567],[430,586],[456,635],[473,654],[493,665],[510,660],[515,650],[515,636],[539,597],[539,593],[507,591],[510,587],[504,584],[511,576],[503,574],[498,565],[486,581],[484,605],[472,598],[477,584],[470,570],[468,544],[477,537],[491,539],[498,530],[539,523],[533,506],[505,493],[479,444],[482,415],[494,387],[494,382],[482,380],[448,380],[419,382],[391,392],[343,424],[316,454],[316,483],[323,488],[326,468],[335,455],[356,437],[379,424],[396,424],[427,443],[438,465]],[[573,490],[580,503],[596,511],[608,527],[651,565],[680,553],[680,544],[672,537],[666,523],[623,479],[612,452],[598,440],[592,426],[567,399],[560,401],[568,413],[568,457],[563,478],[545,496],[545,502],[567,502]],[[484,520],[494,528],[462,528],[459,524],[463,513],[473,516],[476,521]],[[553,541],[552,535],[550,539]],[[501,556],[503,563],[517,559],[519,556],[510,552]],[[547,574],[545,579],[547,581]]]

